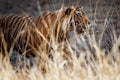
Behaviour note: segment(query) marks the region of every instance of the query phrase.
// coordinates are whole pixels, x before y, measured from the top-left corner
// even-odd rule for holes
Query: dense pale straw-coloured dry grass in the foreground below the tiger
[[[96,58],[86,48],[85,51],[78,50],[78,58],[73,52],[72,59],[68,62],[62,58],[61,51],[56,51],[53,61],[46,59],[38,66],[24,68],[18,72],[9,64],[9,59],[0,60],[0,80],[119,80],[120,51],[117,48],[120,39],[116,41],[108,56],[105,56],[104,51],[94,41],[91,43]]]

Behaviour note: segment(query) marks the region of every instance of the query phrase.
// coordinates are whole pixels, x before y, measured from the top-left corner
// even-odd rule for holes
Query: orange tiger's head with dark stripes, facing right
[[[84,12],[82,6],[69,7],[65,11],[65,15],[69,15],[68,32],[75,31],[77,34],[84,33],[90,25],[90,20]]]

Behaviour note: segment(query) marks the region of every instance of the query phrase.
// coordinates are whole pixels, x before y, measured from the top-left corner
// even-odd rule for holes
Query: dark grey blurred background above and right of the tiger
[[[114,43],[113,30],[117,38],[120,36],[120,0],[0,0],[0,15],[28,14],[38,17],[45,11],[54,11],[62,6],[78,5],[84,7],[91,20],[99,42],[103,30],[102,48],[111,49]]]

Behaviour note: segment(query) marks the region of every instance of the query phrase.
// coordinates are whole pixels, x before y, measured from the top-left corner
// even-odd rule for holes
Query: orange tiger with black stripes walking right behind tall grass
[[[71,31],[84,33],[89,24],[82,6],[62,7],[54,12],[45,12],[38,18],[4,15],[0,17],[0,48],[4,53],[5,41],[8,53],[16,50],[27,57],[36,56],[43,43],[50,46],[52,36],[55,42],[62,43],[70,38]]]

